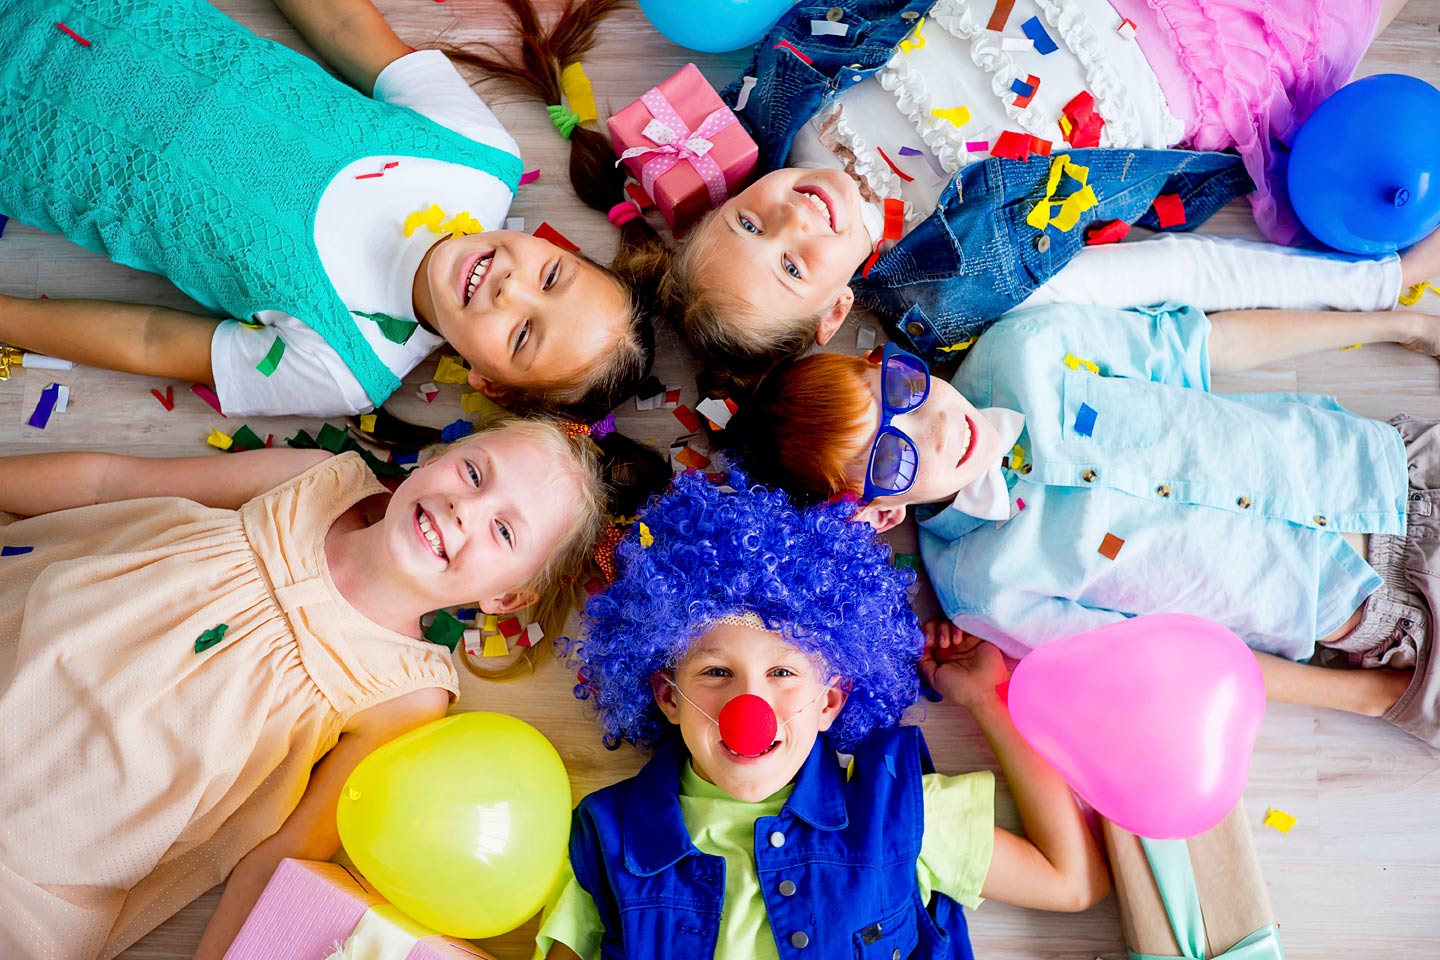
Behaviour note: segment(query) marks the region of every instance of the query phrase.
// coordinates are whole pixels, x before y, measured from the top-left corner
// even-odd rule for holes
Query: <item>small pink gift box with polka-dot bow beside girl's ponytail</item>
[[[608,122],[616,155],[675,233],[739,191],[760,157],[694,63]]]

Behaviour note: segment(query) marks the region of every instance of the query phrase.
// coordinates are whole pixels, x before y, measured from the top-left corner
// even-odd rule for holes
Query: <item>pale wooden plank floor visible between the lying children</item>
[[[382,0],[402,37],[423,46],[436,40],[503,40],[494,0]],[[220,7],[265,36],[302,45],[268,0],[226,0]],[[1440,83],[1440,0],[1413,0],[1375,43],[1361,73],[1398,71]],[[602,30],[596,52],[586,59],[602,114],[618,109],[687,60],[697,62],[717,85],[739,71],[737,56],[687,53],[655,35],[638,10],[622,10]],[[566,148],[534,104],[498,104],[526,154],[526,167],[541,170],[540,180],[521,190],[513,213],[533,227],[547,219],[605,259],[613,230],[585,210],[564,181]],[[1437,122],[1437,118],[1397,117],[1397,124]],[[1243,207],[1221,213],[1208,232],[1254,236]],[[135,273],[71,246],[63,239],[10,223],[0,239],[0,292],[23,296],[102,296],[183,307],[187,301],[158,278]],[[1440,308],[1437,308],[1440,309]],[[854,325],[837,338],[854,345]],[[409,379],[422,383],[433,364]],[[684,386],[694,406],[694,381],[668,334],[661,335],[658,371]],[[52,380],[71,387],[71,407],[48,429],[24,425],[40,390]],[[46,449],[108,449],[153,455],[194,455],[207,450],[210,426],[233,429],[189,391],[176,386],[176,409],[166,412],[150,396],[156,380],[91,368],[52,376],[20,373],[0,383],[0,453]],[[1398,412],[1440,417],[1440,368],[1434,361],[1400,348],[1367,347],[1328,353],[1279,364],[1246,377],[1217,379],[1217,389],[1308,390],[1331,393],[1358,413],[1385,417]],[[445,423],[458,416],[456,387],[426,409],[418,400],[412,416]],[[408,391],[402,390],[403,397]],[[252,419],[261,435],[288,436],[315,422]],[[668,412],[622,410],[621,426],[632,436],[662,448],[684,433]],[[3,466],[0,466],[3,482]],[[913,530],[896,535],[899,550],[914,550]],[[933,597],[917,599],[922,613],[935,610]],[[572,679],[549,656],[539,658],[533,676],[494,684],[462,675],[464,710],[510,712],[536,724],[560,750],[572,773],[575,796],[634,773],[642,759],[631,751],[608,753],[585,708],[570,695]],[[958,773],[991,767],[992,759],[969,720],[950,707],[932,707],[924,730],[940,770]],[[96,797],[96,802],[104,802]],[[1267,806],[1293,813],[1299,823],[1287,835],[1260,825]],[[1315,710],[1273,707],[1256,747],[1244,807],[1256,838],[1282,924],[1290,960],[1338,956],[1365,960],[1414,960],[1440,956],[1440,756],[1380,721]],[[1001,822],[1015,826],[1008,796],[1001,797]],[[189,957],[219,891],[202,897],[124,956],[131,960]],[[477,904],[477,908],[482,908]],[[534,924],[487,944],[501,960],[528,957]],[[1047,915],[988,904],[972,917],[978,957],[1080,959],[1123,957],[1113,897],[1081,915]]]

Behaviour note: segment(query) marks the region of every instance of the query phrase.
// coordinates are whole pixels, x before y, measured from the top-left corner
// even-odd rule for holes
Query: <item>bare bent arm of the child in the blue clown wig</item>
[[[981,894],[1035,910],[1089,910],[1110,891],[1104,855],[1070,787],[1020,737],[995,692],[1007,676],[1001,652],[948,620],[932,620],[924,632],[922,675],[975,717],[1025,826],[1022,838],[995,828],[995,852]]]

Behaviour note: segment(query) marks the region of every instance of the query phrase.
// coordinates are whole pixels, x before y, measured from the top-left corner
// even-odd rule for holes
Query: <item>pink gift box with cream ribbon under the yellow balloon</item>
[[[282,859],[225,960],[492,960],[386,902],[338,864]]]

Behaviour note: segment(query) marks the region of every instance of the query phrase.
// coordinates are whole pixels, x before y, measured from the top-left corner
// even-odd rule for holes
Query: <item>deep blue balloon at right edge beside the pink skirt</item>
[[[1440,91],[1414,76],[1355,81],[1315,108],[1290,150],[1290,203],[1318,240],[1390,253],[1440,226]]]

